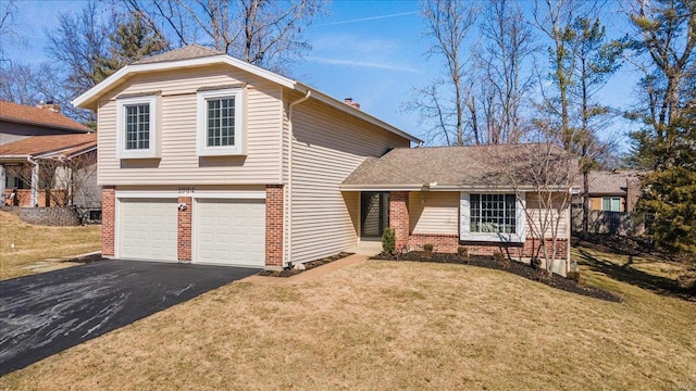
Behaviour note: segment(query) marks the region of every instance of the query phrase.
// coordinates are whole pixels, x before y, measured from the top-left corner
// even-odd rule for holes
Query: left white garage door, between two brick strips
[[[177,261],[176,199],[121,199],[119,256]]]

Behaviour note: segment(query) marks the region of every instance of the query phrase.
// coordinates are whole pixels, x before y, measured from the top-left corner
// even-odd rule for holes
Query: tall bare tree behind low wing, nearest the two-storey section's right
[[[414,89],[415,99],[405,109],[418,112],[424,123],[431,124],[431,141],[463,146],[465,115],[473,99],[471,86],[464,84],[464,45],[478,10],[464,1],[436,0],[422,2],[422,13],[424,36],[433,41],[427,54],[440,59],[445,72],[428,86]]]

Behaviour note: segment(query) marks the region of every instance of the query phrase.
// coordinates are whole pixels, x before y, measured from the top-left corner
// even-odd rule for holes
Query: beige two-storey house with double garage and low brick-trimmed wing
[[[388,225],[400,243],[432,240],[440,251],[460,240],[485,252],[533,247],[518,209],[525,200],[510,199],[510,187],[418,172],[485,166],[475,148],[447,150],[448,159],[439,159],[446,149],[409,149],[420,140],[352,101],[217,51],[189,46],[146,59],[73,103],[98,114],[105,256],[279,268],[378,240]],[[396,168],[370,168],[391,156]],[[481,216],[502,213],[477,224],[506,235],[460,226],[474,202]]]

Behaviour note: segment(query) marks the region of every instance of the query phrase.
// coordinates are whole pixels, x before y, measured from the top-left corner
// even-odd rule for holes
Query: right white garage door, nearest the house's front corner
[[[263,200],[199,200],[196,204],[196,262],[263,267]]]

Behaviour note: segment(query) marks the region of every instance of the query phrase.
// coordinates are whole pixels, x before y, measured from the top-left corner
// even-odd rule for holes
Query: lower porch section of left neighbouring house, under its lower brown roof
[[[97,135],[34,136],[0,146],[0,194],[10,205],[98,211]]]

